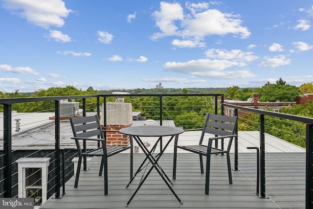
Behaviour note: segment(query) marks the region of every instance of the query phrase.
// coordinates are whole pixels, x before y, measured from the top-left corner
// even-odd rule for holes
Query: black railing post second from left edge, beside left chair
[[[60,194],[60,100],[54,101],[55,105],[55,198],[61,198]]]

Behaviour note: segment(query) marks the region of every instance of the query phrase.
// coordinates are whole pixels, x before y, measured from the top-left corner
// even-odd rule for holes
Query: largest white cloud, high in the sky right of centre
[[[241,26],[242,21],[238,15],[222,13],[216,9],[207,9],[206,3],[186,4],[191,13],[183,10],[179,3],[162,1],[160,10],[153,13],[156,26],[161,32],[154,33],[152,39],[156,40],[166,36],[179,36],[184,39],[193,37],[201,40],[209,35],[226,35],[233,33],[247,38],[251,34],[246,27]],[[199,12],[200,10],[205,10]],[[197,13],[198,12],[198,13]]]

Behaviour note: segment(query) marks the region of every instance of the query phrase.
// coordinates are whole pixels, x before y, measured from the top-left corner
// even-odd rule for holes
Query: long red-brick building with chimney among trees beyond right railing
[[[249,98],[247,101],[240,101],[239,99],[224,99],[224,103],[231,104],[231,105],[237,105],[242,107],[249,107],[254,109],[260,109],[264,110],[265,108],[271,108],[273,112],[279,112],[279,110],[285,106],[291,107],[292,105],[295,105],[296,102],[281,102],[279,100],[275,102],[260,102],[260,94],[259,93],[253,93],[252,97]],[[224,107],[224,115],[228,116],[234,116],[234,108],[230,107]],[[238,116],[241,117],[245,115],[244,112],[240,111],[238,112]]]

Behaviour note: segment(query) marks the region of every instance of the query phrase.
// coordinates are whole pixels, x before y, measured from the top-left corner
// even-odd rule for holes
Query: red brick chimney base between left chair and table
[[[110,132],[110,131],[119,131],[122,128],[127,128],[126,125],[108,125],[107,126],[107,145],[108,146],[128,146],[131,143],[130,136],[123,135],[119,132]]]

